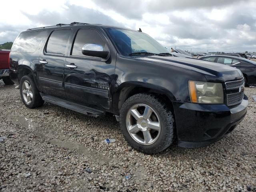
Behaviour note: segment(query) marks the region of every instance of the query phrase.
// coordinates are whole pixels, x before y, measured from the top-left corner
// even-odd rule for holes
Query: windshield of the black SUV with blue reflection
[[[133,53],[166,53],[168,50],[149,35],[126,29],[108,28],[108,33],[117,49],[124,56]]]

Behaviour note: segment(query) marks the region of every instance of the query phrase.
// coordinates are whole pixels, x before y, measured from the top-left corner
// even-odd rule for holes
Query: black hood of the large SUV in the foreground
[[[193,70],[205,76],[209,82],[226,82],[242,78],[242,72],[234,67],[194,58],[173,56],[149,56],[137,58]]]

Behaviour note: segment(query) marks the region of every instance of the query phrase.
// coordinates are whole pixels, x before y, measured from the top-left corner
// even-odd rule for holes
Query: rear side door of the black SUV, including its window
[[[64,66],[71,29],[53,30],[42,49],[37,68],[38,84],[44,94],[64,98]]]

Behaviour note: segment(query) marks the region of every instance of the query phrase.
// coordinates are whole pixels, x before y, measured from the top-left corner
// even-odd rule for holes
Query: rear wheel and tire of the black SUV
[[[23,76],[20,80],[20,96],[22,102],[28,108],[40,107],[44,104],[33,77],[30,75]]]

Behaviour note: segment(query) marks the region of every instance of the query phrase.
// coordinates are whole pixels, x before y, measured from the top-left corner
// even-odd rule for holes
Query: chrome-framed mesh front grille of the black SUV
[[[235,106],[242,102],[244,98],[244,78],[226,82],[227,106]]]

